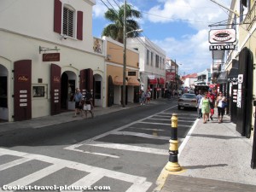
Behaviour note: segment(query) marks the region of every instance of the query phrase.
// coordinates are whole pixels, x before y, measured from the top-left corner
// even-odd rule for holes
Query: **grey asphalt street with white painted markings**
[[[95,119],[5,132],[0,137],[0,185],[152,191],[169,159],[172,113],[177,113],[182,143],[197,115],[195,110],[177,110],[176,100],[151,102]]]

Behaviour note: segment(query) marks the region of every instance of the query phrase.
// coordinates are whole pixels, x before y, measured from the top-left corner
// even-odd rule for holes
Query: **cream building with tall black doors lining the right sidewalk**
[[[220,90],[229,101],[230,119],[241,136],[253,140],[251,167],[256,168],[256,1],[232,0],[229,22],[224,28],[236,30],[236,49],[220,50]],[[214,55],[213,53],[213,59]]]

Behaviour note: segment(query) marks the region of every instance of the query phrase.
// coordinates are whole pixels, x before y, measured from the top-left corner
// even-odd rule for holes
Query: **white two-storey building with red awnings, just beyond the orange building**
[[[152,90],[154,99],[163,96],[166,83],[166,51],[148,38],[127,38],[127,47],[140,54],[141,89]]]

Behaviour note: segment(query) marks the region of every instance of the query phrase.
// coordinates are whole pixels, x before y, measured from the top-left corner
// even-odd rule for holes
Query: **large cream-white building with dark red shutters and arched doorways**
[[[95,51],[95,0],[2,0],[0,119],[32,119],[73,109],[75,87],[106,106],[104,56]],[[97,83],[96,83],[97,82]]]

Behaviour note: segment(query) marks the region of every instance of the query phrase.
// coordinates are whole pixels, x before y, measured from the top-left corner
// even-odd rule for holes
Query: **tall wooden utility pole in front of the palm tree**
[[[123,67],[123,96],[122,96],[122,107],[125,108],[125,89],[126,89],[126,0],[124,7],[124,67]]]

